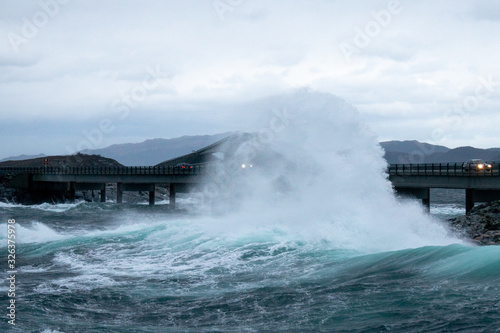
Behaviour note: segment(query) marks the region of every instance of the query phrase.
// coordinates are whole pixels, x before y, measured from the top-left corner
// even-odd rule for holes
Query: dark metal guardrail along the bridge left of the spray
[[[205,165],[168,167],[1,167],[0,174],[20,175],[201,175]]]

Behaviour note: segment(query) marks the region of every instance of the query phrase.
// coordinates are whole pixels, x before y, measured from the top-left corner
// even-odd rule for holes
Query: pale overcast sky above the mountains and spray
[[[256,130],[300,88],[380,141],[500,146],[497,0],[0,4],[0,158]]]

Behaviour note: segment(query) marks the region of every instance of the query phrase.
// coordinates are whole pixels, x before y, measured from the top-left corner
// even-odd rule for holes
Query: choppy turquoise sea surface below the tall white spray
[[[1,331],[500,331],[498,247],[366,251],[166,206],[2,204],[0,218],[2,244],[16,219],[18,270]]]

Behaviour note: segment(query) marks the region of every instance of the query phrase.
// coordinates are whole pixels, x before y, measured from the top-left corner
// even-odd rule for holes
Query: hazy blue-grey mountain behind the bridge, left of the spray
[[[127,166],[156,165],[174,157],[206,147],[232,133],[182,136],[174,139],[151,139],[141,143],[116,144],[102,149],[84,150],[84,154],[98,154]]]

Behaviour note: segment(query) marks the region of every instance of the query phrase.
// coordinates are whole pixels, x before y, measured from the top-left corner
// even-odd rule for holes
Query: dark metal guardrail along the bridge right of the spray
[[[390,176],[500,176],[500,164],[494,163],[491,170],[464,170],[463,163],[420,163],[390,164],[387,173]]]

